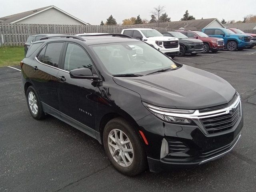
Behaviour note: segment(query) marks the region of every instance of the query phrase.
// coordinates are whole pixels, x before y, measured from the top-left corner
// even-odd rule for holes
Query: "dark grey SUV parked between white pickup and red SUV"
[[[190,39],[186,35],[180,32],[160,32],[164,36],[176,37],[179,39],[180,44],[180,52],[179,56],[185,56],[186,53],[190,53],[192,55],[196,55],[198,53],[202,53],[204,50],[204,44],[201,40],[198,39]]]

